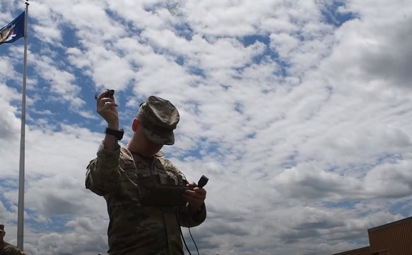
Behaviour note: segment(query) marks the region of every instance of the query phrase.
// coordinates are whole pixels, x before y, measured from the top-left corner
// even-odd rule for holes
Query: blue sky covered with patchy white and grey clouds
[[[0,27],[24,2],[0,2]],[[181,121],[167,158],[197,182],[201,254],[332,254],[412,216],[412,2],[30,1],[27,254],[104,254],[85,189],[115,89],[121,141],[149,95]],[[0,221],[17,243],[23,38],[0,45]],[[185,240],[196,253],[187,229]]]

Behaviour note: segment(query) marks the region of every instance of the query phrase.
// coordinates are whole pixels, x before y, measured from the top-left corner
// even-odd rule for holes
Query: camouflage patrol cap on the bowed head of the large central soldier
[[[176,129],[180,116],[169,100],[148,96],[140,105],[139,113],[147,139],[164,145],[174,144],[173,130]]]

